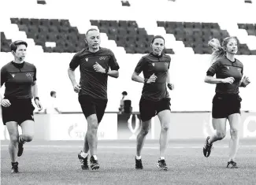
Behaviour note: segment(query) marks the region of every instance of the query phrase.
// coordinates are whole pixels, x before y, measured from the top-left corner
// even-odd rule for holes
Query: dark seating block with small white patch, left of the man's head
[[[36,45],[43,46],[44,52],[75,53],[85,45],[85,35],[70,26],[69,20],[12,18],[11,22],[34,39]],[[46,47],[46,42],[55,42],[56,47]]]

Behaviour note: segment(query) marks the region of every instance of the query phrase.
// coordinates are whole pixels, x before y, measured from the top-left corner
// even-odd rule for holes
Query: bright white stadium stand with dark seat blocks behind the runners
[[[13,2],[17,6],[13,7]],[[212,17],[209,13],[209,2],[202,0],[161,0],[157,4],[155,1],[146,3],[132,0],[129,1],[130,6],[122,6],[119,0],[77,0],[76,3],[56,0],[47,1],[44,6],[38,5],[36,1],[28,1],[26,6],[23,3],[15,0],[0,2],[1,7],[13,7],[8,15],[0,17],[0,31],[3,32],[1,65],[13,59],[9,54],[9,43],[17,39],[26,40],[27,61],[38,68],[39,96],[42,102],[50,91],[58,91],[58,98],[65,100],[60,105],[63,111],[80,111],[76,94],[69,82],[67,68],[73,54],[85,46],[83,39],[88,28],[98,28],[101,31],[102,47],[113,50],[121,66],[119,79],[109,78],[108,94],[111,103],[106,111],[117,110],[117,97],[124,90],[133,98],[134,111],[139,110],[142,84],[132,82],[131,76],[139,58],[149,52],[153,35],[165,37],[166,53],[172,57],[170,74],[175,91],[170,91],[170,95],[173,111],[211,109],[210,99],[214,87],[208,86],[203,79],[210,64],[210,48],[206,43],[212,37],[221,40],[225,36],[236,35],[240,42],[237,58],[243,62],[245,73],[250,76],[251,81],[256,81],[256,34],[253,18],[256,17],[255,3],[216,0],[211,5],[211,9],[220,9],[220,5],[224,7],[232,3],[234,11],[250,15],[240,17],[239,13],[235,13],[232,20],[230,17],[223,17],[221,13]],[[195,7],[195,4],[200,4],[200,7]],[[61,9],[56,13],[56,7],[60,5]],[[97,6],[97,13],[95,9],[84,8],[95,5],[101,5]],[[161,13],[155,13],[156,5],[161,7]],[[19,6],[24,7],[24,11],[19,11]],[[84,13],[90,16],[85,16]],[[78,73],[76,77],[79,79]],[[254,109],[250,102],[255,99],[251,91],[255,88],[251,83],[247,91],[241,90],[242,109]],[[198,93],[201,89],[203,91]]]

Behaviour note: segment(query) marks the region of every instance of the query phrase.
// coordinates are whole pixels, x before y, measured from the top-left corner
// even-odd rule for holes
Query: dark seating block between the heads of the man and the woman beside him
[[[145,28],[138,28],[133,20],[91,20],[91,25],[106,33],[117,46],[124,47],[127,54],[148,54],[150,41],[154,35],[147,35]],[[172,49],[166,49],[166,54],[174,54]]]

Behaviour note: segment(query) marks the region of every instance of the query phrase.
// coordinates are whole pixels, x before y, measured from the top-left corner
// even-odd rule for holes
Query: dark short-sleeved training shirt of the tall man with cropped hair
[[[69,68],[75,70],[80,65],[80,95],[87,94],[93,98],[107,99],[108,76],[95,72],[93,65],[96,65],[96,62],[106,70],[109,68],[111,70],[119,69],[113,52],[102,47],[96,53],[91,53],[88,49],[76,53],[69,64]]]

